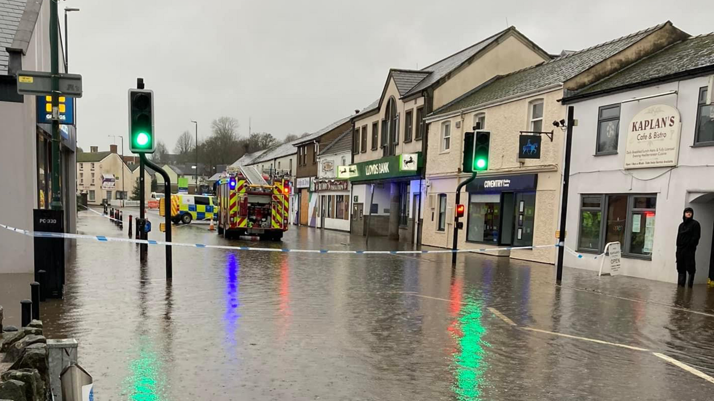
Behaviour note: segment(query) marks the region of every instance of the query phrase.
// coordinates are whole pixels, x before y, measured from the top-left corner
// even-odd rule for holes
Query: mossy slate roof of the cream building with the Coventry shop
[[[667,23],[665,23],[667,24]],[[434,111],[432,114],[448,113],[461,110],[462,108],[472,108],[491,101],[517,96],[540,88],[563,83],[569,78],[582,73],[591,66],[608,59],[620,51],[635,44],[635,42],[648,36],[653,31],[662,28],[665,24],[652,26],[648,29],[635,32],[628,36],[623,36],[612,41],[598,44],[588,49],[565,54],[550,61],[524,68],[520,71],[496,76],[492,81],[478,86],[463,96],[456,98],[451,103]]]

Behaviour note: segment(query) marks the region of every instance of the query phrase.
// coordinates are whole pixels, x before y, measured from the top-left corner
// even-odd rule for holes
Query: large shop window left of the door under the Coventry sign
[[[501,221],[501,195],[472,193],[468,203],[466,240],[498,243]]]

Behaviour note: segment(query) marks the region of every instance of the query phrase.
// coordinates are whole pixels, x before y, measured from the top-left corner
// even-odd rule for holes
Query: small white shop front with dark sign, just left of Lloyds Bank
[[[317,227],[350,230],[350,182],[339,178],[318,178],[311,191],[318,197]]]

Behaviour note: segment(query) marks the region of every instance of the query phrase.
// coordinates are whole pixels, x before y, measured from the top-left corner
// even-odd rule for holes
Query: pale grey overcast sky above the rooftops
[[[316,131],[380,94],[388,68],[423,68],[516,26],[550,53],[577,50],[670,20],[714,30],[714,2],[478,0],[67,0],[69,71],[84,77],[78,144],[109,148],[127,133],[128,88],[155,92],[156,136]],[[470,88],[464,88],[467,91]],[[119,138],[117,138],[119,141]],[[126,153],[129,153],[125,142]],[[120,146],[121,150],[121,146]]]

